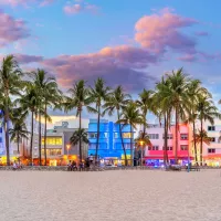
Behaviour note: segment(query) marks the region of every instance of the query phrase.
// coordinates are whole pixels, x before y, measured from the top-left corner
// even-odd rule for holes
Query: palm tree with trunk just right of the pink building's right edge
[[[189,104],[188,104],[188,118],[186,122],[192,124],[192,130],[193,130],[193,147],[194,147],[194,161],[198,161],[197,158],[197,140],[196,140],[196,120],[198,118],[198,101],[199,96],[202,94],[211,96],[207,88],[201,86],[201,82],[199,80],[192,80],[188,84],[188,97],[189,97]]]

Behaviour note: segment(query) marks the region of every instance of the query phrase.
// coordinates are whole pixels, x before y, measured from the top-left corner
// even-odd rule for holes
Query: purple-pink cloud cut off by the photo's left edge
[[[14,19],[0,11],[0,48],[28,36],[30,36],[30,32],[23,20]]]

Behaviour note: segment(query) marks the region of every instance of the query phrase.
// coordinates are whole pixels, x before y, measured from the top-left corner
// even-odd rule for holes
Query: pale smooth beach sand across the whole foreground
[[[219,221],[221,171],[0,171],[0,221]]]

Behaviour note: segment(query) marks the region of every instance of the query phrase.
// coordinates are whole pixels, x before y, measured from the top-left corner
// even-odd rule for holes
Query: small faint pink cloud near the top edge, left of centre
[[[74,4],[70,4],[70,3],[66,4],[63,8],[63,10],[66,14],[77,14],[83,11],[97,13],[98,7],[95,4],[90,4],[90,3],[83,2],[83,1],[77,1],[77,3],[74,3]]]

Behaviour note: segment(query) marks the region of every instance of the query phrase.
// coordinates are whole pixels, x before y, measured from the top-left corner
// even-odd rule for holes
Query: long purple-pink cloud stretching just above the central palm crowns
[[[97,53],[82,55],[61,55],[46,59],[43,64],[49,72],[55,73],[63,87],[84,78],[93,84],[103,77],[110,86],[125,85],[127,90],[143,90],[156,77],[144,71],[157,57],[146,50],[126,45],[104,48]]]

